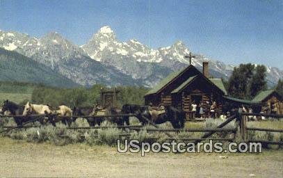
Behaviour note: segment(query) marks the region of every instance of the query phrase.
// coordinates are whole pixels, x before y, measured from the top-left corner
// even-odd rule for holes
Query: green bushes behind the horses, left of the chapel
[[[31,102],[59,106],[93,106],[100,102],[101,90],[113,90],[102,84],[95,84],[91,88],[50,88],[45,86],[36,87],[33,90]],[[143,96],[149,90],[145,87],[118,86],[118,106],[123,104],[144,104]]]

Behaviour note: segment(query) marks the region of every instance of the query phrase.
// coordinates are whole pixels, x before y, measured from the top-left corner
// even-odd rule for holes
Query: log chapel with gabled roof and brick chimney
[[[209,63],[203,62],[202,72],[188,65],[184,70],[169,74],[145,94],[145,104],[171,105],[185,111],[186,119],[193,119],[200,118],[200,109],[207,117],[213,103],[215,114],[220,115],[225,95],[227,91],[222,79],[209,78]],[[197,111],[192,112],[192,104],[197,105]]]

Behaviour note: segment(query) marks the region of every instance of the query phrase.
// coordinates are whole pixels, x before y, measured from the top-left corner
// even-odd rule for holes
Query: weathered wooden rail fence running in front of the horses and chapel
[[[152,125],[154,128],[146,128],[141,125],[122,125],[122,126],[96,126],[96,127],[67,127],[67,129],[108,129],[108,128],[118,128],[118,129],[123,129],[123,132],[119,134],[120,137],[129,137],[131,136],[131,131],[147,131],[147,132],[162,132],[165,133],[165,135],[168,136],[166,140],[182,140],[182,141],[195,141],[201,142],[204,140],[223,140],[223,141],[229,141],[232,142],[236,138],[236,133],[239,131],[241,133],[241,140],[245,142],[257,142],[257,143],[266,143],[266,144],[273,144],[273,145],[283,145],[282,140],[278,141],[270,141],[270,140],[249,140],[248,138],[248,131],[271,131],[271,132],[283,132],[283,129],[265,129],[265,128],[256,128],[256,127],[247,127],[247,116],[248,115],[256,115],[256,116],[265,116],[265,117],[272,117],[272,118],[283,118],[283,115],[267,115],[267,114],[259,114],[259,113],[236,113],[235,115],[232,115],[231,117],[227,118],[223,123],[219,124],[218,127],[212,128],[212,129],[161,129],[158,127],[158,125],[154,124],[151,120],[148,118],[143,117],[143,120],[147,120],[148,124]],[[10,131],[12,129],[26,129],[26,128],[31,128],[35,126],[28,126],[26,124],[29,124],[31,122],[35,122],[37,120],[40,120],[40,117],[60,117],[60,118],[65,118],[62,116],[57,116],[57,115],[29,115],[29,117],[34,118],[33,120],[30,120],[29,122],[24,122],[22,124],[22,127],[9,127],[9,126],[1,126],[3,130],[0,131],[0,133],[3,133],[5,131]],[[122,117],[122,116],[129,116],[129,117],[138,117],[135,114],[119,114],[119,115],[74,115],[72,118],[104,118],[105,120],[109,120],[113,117]],[[8,117],[8,118],[13,118],[13,117],[25,117],[23,115],[0,115],[0,118],[3,117]],[[234,127],[233,128],[224,128],[227,124],[230,122],[234,122]],[[126,131],[127,129],[127,131]],[[126,132],[125,132],[126,131]],[[204,135],[200,138],[175,138],[172,136],[172,132],[204,132]],[[221,132],[230,132],[229,138],[211,138],[213,133],[221,133]],[[232,135],[232,136],[231,136]],[[158,139],[158,138],[152,138]]]

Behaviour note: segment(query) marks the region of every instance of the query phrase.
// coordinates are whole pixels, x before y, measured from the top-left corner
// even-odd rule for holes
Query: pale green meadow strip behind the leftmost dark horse
[[[4,100],[10,100],[17,104],[31,100],[31,93],[10,93],[10,92],[0,92],[0,101],[3,102]]]

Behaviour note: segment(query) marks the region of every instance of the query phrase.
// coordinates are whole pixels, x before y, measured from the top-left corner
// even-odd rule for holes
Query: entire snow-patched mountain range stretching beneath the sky
[[[190,53],[181,41],[159,49],[151,49],[135,39],[120,42],[110,26],[103,26],[81,47],[56,32],[33,38],[0,31],[0,47],[24,54],[84,86],[105,83],[152,87],[170,72],[186,67],[189,61],[184,56]],[[214,77],[227,79],[232,74],[232,65],[200,54],[194,56],[192,64],[200,70],[202,62],[209,61],[209,72]],[[270,86],[282,78],[282,70],[267,67]]]

